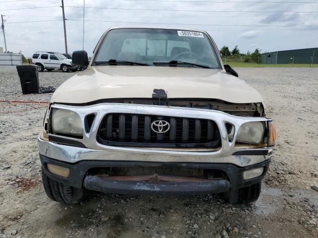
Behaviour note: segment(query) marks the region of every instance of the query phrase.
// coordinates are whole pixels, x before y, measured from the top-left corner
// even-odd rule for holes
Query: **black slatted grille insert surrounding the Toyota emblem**
[[[170,123],[169,131],[156,133],[155,120]],[[108,114],[101,122],[97,140],[106,145],[144,147],[221,146],[218,126],[213,120],[141,114]]]

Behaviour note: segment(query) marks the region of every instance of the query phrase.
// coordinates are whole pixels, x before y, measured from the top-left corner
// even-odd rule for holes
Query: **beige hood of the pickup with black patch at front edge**
[[[64,82],[51,103],[88,103],[112,98],[152,98],[164,89],[168,98],[220,99],[231,103],[262,102],[243,80],[220,69],[198,67],[89,66]]]

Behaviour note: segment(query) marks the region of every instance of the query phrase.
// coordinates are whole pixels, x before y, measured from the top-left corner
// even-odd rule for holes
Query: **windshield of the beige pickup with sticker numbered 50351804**
[[[99,47],[93,65],[109,60],[150,65],[153,65],[154,62],[178,60],[192,64],[180,63],[177,66],[196,67],[195,64],[201,64],[210,68],[221,67],[206,34],[170,29],[114,29],[109,31]],[[156,65],[167,66],[168,64]]]

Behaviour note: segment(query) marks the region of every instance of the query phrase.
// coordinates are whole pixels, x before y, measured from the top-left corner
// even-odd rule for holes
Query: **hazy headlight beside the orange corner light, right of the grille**
[[[261,121],[250,121],[239,127],[237,142],[259,144],[262,142],[265,126]]]

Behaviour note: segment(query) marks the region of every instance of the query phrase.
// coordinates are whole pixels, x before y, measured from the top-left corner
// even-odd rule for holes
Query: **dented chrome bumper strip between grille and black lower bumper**
[[[140,161],[140,162],[178,162],[178,163],[229,163],[239,167],[257,164],[266,160],[264,155],[230,155],[212,156],[210,153],[202,152],[178,152],[159,150],[148,150],[142,153],[134,149],[123,150],[97,150],[57,144],[42,140],[38,137],[39,153],[52,159],[67,163],[77,163],[84,160],[100,161]],[[127,148],[128,149],[128,148]],[[256,150],[257,151],[257,150]],[[267,150],[266,150],[267,151]]]

